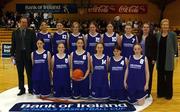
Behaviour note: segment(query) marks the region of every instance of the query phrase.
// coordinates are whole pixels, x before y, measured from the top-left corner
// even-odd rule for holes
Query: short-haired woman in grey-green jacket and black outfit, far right
[[[174,32],[169,31],[169,20],[161,21],[161,32],[157,33],[157,97],[167,100],[173,96],[174,57],[177,52],[177,38]]]

